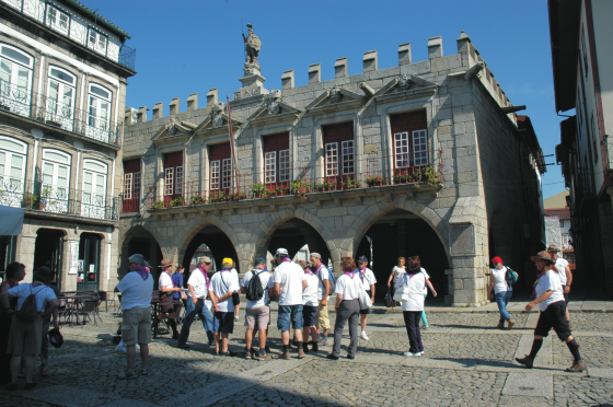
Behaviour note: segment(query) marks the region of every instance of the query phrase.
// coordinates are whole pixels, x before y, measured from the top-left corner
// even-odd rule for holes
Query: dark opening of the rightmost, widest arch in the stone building
[[[397,258],[410,256],[419,256],[421,267],[430,275],[437,290],[438,296],[428,295],[427,301],[442,303],[449,295],[444,275],[449,261],[444,246],[432,226],[415,213],[394,209],[379,218],[365,233],[355,255],[356,258],[369,258],[369,268],[377,277],[375,294],[379,299],[385,296],[388,280],[397,265]]]

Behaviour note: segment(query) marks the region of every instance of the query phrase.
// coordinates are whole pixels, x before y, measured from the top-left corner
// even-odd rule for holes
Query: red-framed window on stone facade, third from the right
[[[264,150],[264,183],[290,182],[289,132],[262,138]]]

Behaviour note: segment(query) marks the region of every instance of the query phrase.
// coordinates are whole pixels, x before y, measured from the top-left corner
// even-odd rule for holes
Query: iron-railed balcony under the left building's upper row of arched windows
[[[2,80],[0,80],[0,112],[27,117],[117,149],[120,147],[119,135],[123,125]]]

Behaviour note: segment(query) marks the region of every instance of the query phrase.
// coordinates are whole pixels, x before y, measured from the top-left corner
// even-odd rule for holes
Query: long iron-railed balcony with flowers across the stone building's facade
[[[236,185],[234,177],[220,177],[212,179],[204,179],[198,182],[184,182],[180,185],[173,185],[172,188],[164,186],[151,186],[142,197],[142,199],[130,199],[128,205],[123,205],[123,212],[139,212],[147,210],[162,210],[165,208],[199,206],[209,203],[233,202],[245,199],[270,199],[276,197],[290,197],[305,200],[308,198],[321,197],[320,194],[326,193],[358,193],[361,190],[366,194],[373,188],[397,188],[405,186],[414,190],[438,190],[442,187],[444,176],[442,172],[442,163],[440,161],[441,150],[420,152],[420,156],[427,153],[429,159],[420,160],[421,165],[414,165],[414,154],[405,154],[406,159],[400,161],[405,166],[389,168],[392,161],[386,156],[365,158],[361,163],[356,161],[346,167],[360,167],[361,172],[351,174],[338,174],[338,168],[328,167],[327,175],[316,176],[316,166],[307,165],[298,168],[298,174],[293,181],[263,182],[269,174],[239,174],[239,183]],[[438,155],[437,164],[427,164],[432,162],[432,158]],[[410,156],[409,156],[410,155]],[[394,156],[397,160],[398,156]],[[356,166],[354,166],[355,164]],[[322,168],[322,171],[325,171]],[[278,174],[276,174],[278,175]],[[254,182],[256,181],[256,182]],[[201,185],[206,187],[203,188]],[[140,206],[142,203],[142,206]]]

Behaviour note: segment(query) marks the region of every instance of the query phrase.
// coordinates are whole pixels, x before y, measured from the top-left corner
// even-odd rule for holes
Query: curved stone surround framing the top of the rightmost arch
[[[448,264],[452,265],[451,255],[449,252],[449,240],[447,237],[449,233],[447,221],[443,221],[437,212],[426,207],[425,205],[398,197],[395,197],[393,200],[385,200],[368,206],[362,212],[362,216],[358,217],[354,221],[354,223],[349,228],[349,231],[347,232],[347,237],[354,239],[354,257],[356,256],[356,251],[358,249],[358,245],[360,243],[359,240],[361,240],[361,237],[366,234],[370,226],[394,209],[402,209],[406,210],[407,212],[414,213],[421,218],[428,225],[430,225],[444,248]],[[363,216],[363,213],[367,214]]]

